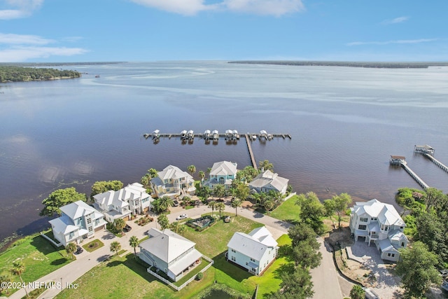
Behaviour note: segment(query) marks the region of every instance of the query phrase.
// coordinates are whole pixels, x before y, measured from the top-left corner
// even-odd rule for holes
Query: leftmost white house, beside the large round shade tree
[[[98,230],[106,228],[104,215],[78,200],[60,208],[62,216],[48,221],[53,235],[62,245],[79,244],[83,239],[94,237]]]

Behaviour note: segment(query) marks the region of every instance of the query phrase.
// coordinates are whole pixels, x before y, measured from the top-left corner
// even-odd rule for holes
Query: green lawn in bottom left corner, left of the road
[[[9,249],[0,254],[0,273],[9,274],[15,260],[22,260],[25,272],[22,279],[25,283],[35,281],[46,274],[57,270],[72,261],[64,247],[55,247],[40,235],[27,236],[16,241]],[[19,277],[10,275],[13,281]],[[9,292],[10,295],[11,291]],[[6,295],[6,293],[0,293]]]

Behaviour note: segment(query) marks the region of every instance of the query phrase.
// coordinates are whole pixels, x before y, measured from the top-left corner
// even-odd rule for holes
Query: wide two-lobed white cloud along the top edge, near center
[[[205,4],[205,0],[131,0],[134,3],[158,8],[180,15],[196,15],[201,11],[234,11],[256,15],[275,15],[302,11],[302,0],[223,0]]]

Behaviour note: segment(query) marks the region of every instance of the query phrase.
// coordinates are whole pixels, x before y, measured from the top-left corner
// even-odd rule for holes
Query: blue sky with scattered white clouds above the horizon
[[[448,1],[0,0],[0,62],[448,61]]]

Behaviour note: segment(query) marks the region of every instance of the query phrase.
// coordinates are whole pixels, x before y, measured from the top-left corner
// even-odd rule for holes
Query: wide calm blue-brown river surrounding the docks
[[[289,133],[255,141],[257,160],[321,200],[347,192],[393,203],[397,188],[419,186],[390,155],[405,155],[430,186],[448,174],[414,144],[430,144],[448,164],[448,68],[360,69],[225,62],[153,62],[62,67],[87,72],[66,81],[0,85],[0,239],[47,225],[38,216],[52,190],[94,181],[139,181],[169,164],[206,170],[250,163],[244,140],[153,144],[155,129],[236,129]],[[99,78],[94,75],[99,74]]]

